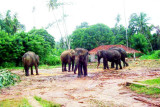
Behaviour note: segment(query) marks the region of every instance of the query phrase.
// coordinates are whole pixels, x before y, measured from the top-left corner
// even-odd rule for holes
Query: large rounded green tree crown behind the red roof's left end
[[[88,28],[79,28],[72,33],[71,47],[82,47],[91,50],[99,45],[113,44],[113,32],[104,24],[96,24]]]

